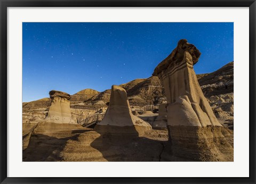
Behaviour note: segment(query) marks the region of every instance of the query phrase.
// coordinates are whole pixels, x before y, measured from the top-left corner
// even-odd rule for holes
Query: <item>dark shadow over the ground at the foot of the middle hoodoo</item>
[[[107,161],[113,162],[159,162],[168,141],[153,140],[139,136],[135,127],[106,127],[116,133],[97,131],[100,137],[91,143]],[[124,133],[126,132],[126,133]],[[127,134],[129,132],[129,134]]]

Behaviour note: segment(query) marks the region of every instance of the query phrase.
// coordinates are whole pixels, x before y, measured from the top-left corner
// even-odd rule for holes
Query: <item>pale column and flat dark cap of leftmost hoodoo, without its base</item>
[[[49,95],[52,102],[46,120],[52,123],[74,123],[71,119],[70,95],[56,90],[51,90]]]

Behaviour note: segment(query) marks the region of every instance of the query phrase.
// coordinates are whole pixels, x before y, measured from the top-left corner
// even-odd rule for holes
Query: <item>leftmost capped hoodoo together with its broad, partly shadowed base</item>
[[[49,94],[52,101],[48,114],[30,130],[23,161],[59,161],[67,141],[76,139],[77,132],[88,130],[71,119],[69,94],[55,90]]]

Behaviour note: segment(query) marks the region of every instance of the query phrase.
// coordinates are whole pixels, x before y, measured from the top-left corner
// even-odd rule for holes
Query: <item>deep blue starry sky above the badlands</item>
[[[183,38],[202,53],[196,73],[234,58],[233,23],[23,22],[22,31],[23,102],[148,78]]]

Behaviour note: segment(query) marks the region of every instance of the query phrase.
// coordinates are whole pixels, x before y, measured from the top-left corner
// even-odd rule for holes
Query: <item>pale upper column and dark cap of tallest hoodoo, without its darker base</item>
[[[193,65],[201,53],[180,40],[177,48],[153,73],[162,81],[167,97],[170,126],[221,126],[199,86]]]

